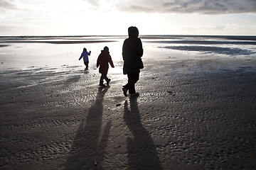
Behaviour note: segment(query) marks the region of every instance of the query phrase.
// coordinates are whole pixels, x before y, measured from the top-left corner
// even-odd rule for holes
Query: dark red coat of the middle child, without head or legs
[[[107,71],[109,69],[109,63],[111,67],[114,67],[110,52],[102,50],[99,57],[97,58],[97,67],[100,66],[99,72],[101,74],[107,74]]]

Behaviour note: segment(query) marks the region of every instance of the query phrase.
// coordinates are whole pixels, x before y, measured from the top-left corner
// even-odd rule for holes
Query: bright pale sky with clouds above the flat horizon
[[[256,0],[0,0],[4,35],[256,35]]]

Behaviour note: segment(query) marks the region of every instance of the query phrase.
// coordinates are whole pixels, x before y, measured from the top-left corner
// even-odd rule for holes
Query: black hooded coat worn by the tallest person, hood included
[[[129,28],[129,38],[124,40],[122,47],[122,57],[124,60],[124,72],[127,73],[139,73],[139,69],[136,68],[137,62],[143,55],[142,40],[138,38],[139,31],[134,29],[136,27]]]

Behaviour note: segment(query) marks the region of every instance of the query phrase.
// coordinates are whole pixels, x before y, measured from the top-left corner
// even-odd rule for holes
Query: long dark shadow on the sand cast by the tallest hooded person
[[[137,98],[130,98],[130,111],[125,101],[124,122],[133,135],[127,138],[129,169],[162,169],[154,141],[142,125]]]

